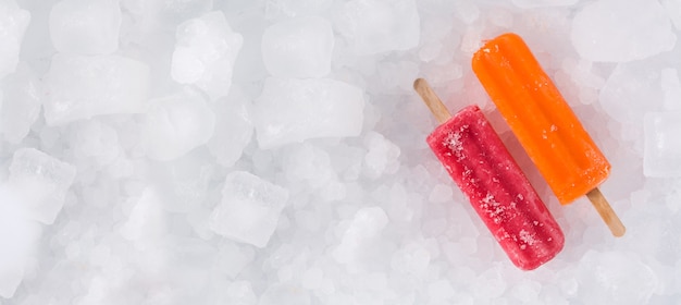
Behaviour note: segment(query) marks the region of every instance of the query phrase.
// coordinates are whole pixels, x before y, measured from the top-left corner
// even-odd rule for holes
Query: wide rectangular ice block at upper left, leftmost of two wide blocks
[[[94,115],[138,113],[147,108],[149,68],[121,56],[52,57],[47,73],[50,98],[45,103],[49,125]]]

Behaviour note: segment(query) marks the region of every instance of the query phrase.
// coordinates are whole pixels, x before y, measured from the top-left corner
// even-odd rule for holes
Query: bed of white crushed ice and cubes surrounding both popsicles
[[[679,0],[0,0],[0,304],[679,304]],[[612,164],[560,206],[470,68],[520,34]],[[566,234],[512,266],[425,144],[478,103]]]

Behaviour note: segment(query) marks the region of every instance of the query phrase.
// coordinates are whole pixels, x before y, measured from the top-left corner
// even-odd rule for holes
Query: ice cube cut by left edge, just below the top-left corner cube
[[[42,83],[27,64],[22,63],[3,82],[0,105],[0,132],[13,144],[20,143],[38,119],[45,98]]]

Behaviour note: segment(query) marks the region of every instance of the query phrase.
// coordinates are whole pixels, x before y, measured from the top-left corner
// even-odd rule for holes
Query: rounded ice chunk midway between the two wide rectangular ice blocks
[[[141,146],[153,160],[168,161],[208,143],[215,114],[197,94],[183,93],[154,99],[145,114]]]

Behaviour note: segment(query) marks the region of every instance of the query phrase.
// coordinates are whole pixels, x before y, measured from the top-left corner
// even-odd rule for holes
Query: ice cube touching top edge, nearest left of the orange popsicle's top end
[[[419,45],[420,19],[414,0],[351,0],[338,9],[334,24],[358,54],[408,50]]]

